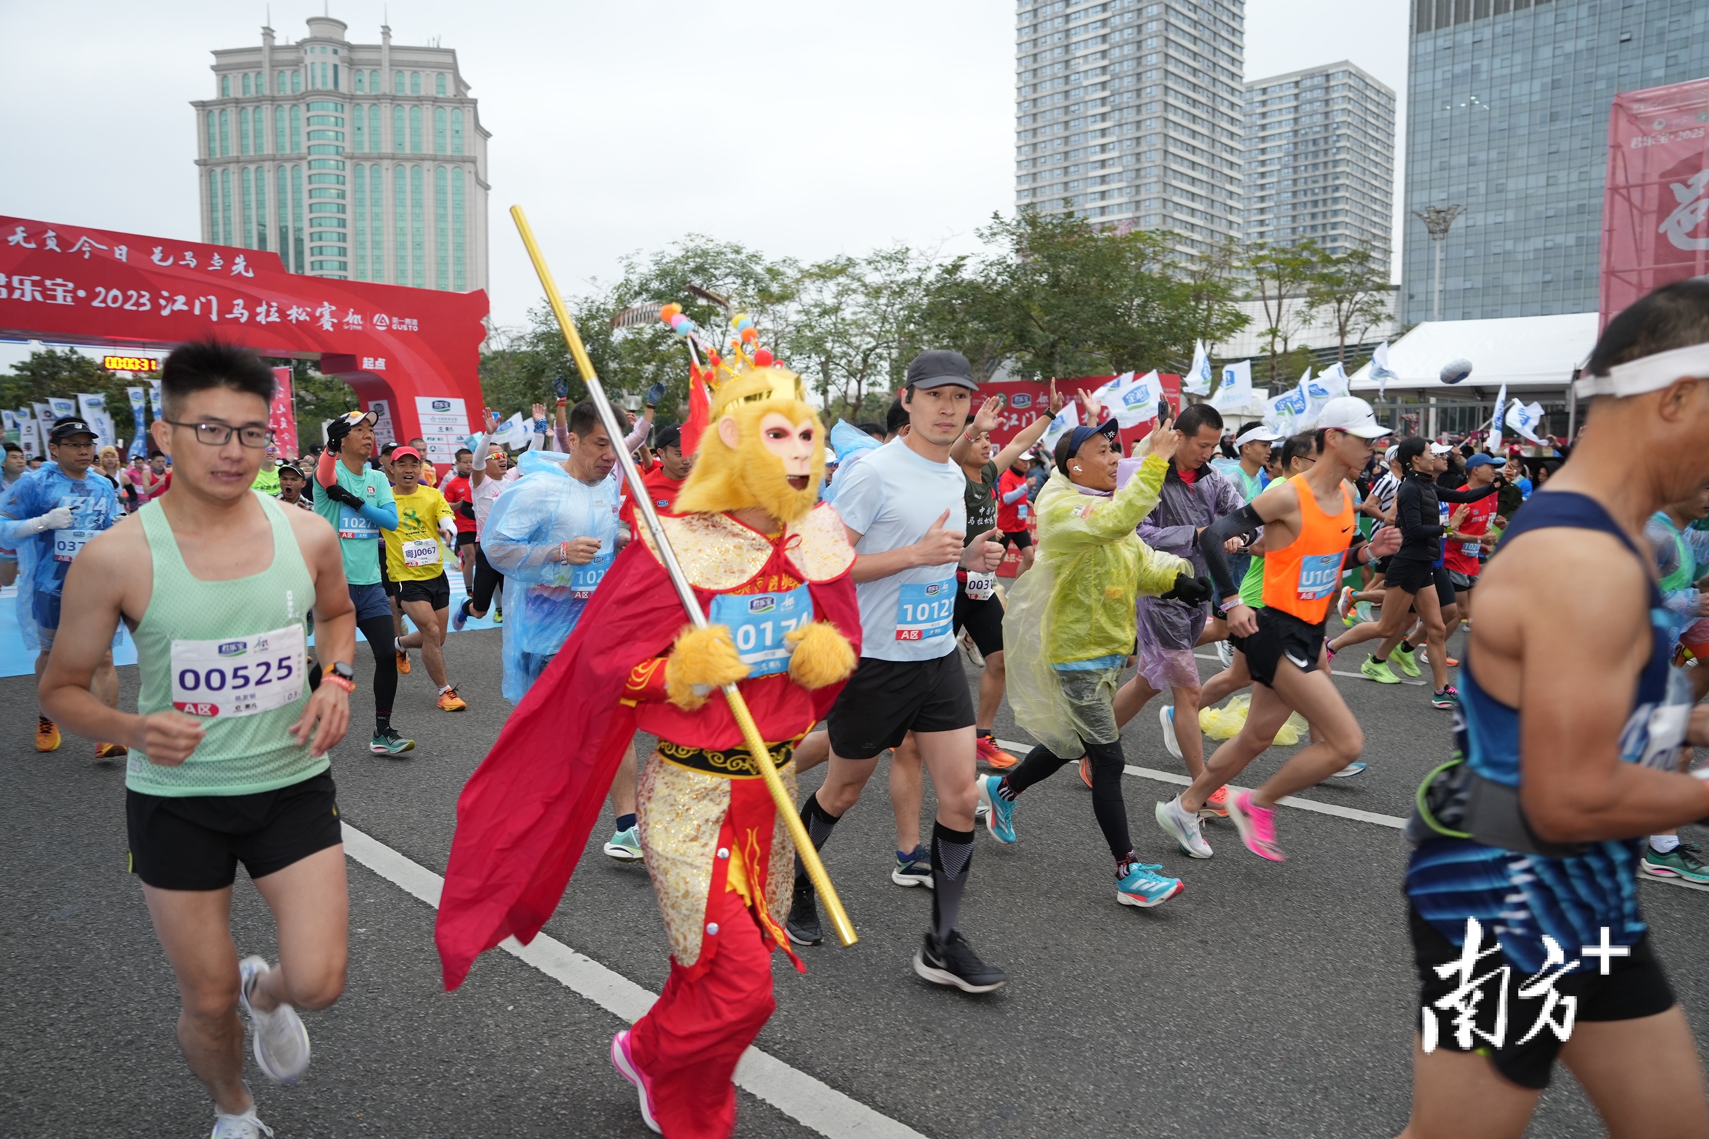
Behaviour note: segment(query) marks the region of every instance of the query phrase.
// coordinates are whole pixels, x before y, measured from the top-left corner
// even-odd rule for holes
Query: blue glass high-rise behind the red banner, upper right
[[[1709,75],[1709,5],[1413,0],[1408,72],[1401,319],[1591,312],[1608,108]]]

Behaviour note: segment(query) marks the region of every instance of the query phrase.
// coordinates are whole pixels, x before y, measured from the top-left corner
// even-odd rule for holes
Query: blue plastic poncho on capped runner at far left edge
[[[70,526],[39,534],[21,533],[22,523],[62,505],[72,511]],[[24,475],[0,500],[0,546],[17,552],[17,627],[26,649],[39,652],[39,630],[60,627],[60,594],[72,558],[120,517],[111,482],[92,468],[82,478],[72,478],[58,463],[43,463]],[[113,644],[118,642],[120,634],[115,632]]]

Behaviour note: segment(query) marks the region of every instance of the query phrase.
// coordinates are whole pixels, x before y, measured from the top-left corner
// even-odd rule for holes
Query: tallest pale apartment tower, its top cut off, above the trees
[[[1239,236],[1244,0],[1020,0],[1015,205]]]

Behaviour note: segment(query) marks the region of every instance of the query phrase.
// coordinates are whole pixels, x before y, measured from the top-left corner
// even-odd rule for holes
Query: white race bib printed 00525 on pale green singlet
[[[173,640],[173,707],[226,719],[272,712],[302,697],[302,625],[250,637]]]

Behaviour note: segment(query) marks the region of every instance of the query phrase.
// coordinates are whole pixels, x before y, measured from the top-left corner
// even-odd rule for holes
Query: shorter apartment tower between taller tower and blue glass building
[[[1246,241],[1369,249],[1395,232],[1395,92],[1347,60],[1246,84]]]

